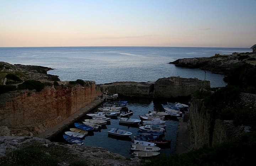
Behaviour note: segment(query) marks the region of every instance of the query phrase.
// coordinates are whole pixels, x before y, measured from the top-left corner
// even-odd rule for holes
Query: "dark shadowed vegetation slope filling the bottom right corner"
[[[180,155],[160,155],[146,166],[194,166],[194,165],[251,165],[254,162],[256,148],[256,132],[241,135],[236,141],[216,145],[212,148],[204,146]]]

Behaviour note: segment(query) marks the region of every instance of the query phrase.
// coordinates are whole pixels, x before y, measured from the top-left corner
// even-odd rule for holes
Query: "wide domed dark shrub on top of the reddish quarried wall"
[[[40,92],[44,88],[44,84],[40,81],[36,81],[33,79],[26,80],[22,84],[18,85],[19,89],[36,89],[37,92]]]

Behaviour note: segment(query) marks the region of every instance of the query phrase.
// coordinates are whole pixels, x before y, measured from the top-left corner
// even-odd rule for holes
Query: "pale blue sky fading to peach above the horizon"
[[[256,44],[256,0],[0,0],[0,47]]]

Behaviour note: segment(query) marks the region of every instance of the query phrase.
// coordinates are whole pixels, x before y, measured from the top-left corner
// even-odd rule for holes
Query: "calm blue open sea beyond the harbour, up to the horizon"
[[[181,68],[173,64],[180,58],[209,57],[215,54],[251,52],[247,48],[192,47],[26,47],[0,48],[0,61],[11,64],[39,65],[54,68],[48,74],[62,81],[76,79],[96,84],[116,81],[147,82],[180,76],[204,79],[199,69]],[[223,75],[206,73],[211,87],[223,87]]]

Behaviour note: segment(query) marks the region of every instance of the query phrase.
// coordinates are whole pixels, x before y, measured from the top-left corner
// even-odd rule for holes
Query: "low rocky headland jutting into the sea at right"
[[[255,61],[255,57],[255,53],[238,54],[234,52],[232,55],[216,54],[213,57],[184,58],[169,63],[181,67],[201,68],[202,70],[212,71],[218,74],[226,74],[234,67],[241,66],[246,62],[251,63],[251,61]]]

